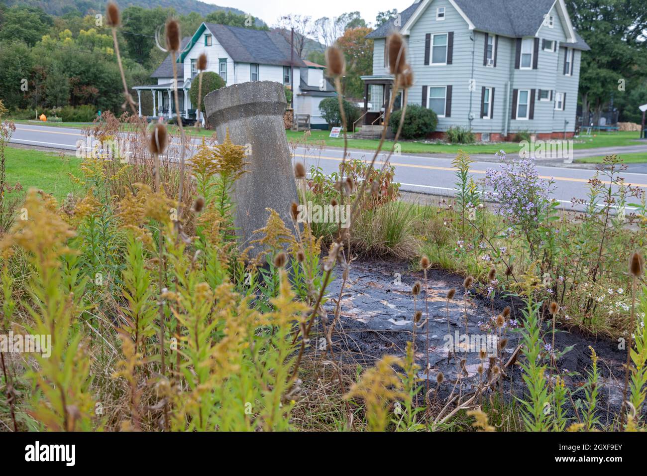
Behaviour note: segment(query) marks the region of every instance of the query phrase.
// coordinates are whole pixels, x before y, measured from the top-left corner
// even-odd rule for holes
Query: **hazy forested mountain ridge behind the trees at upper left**
[[[82,15],[103,13],[105,11],[105,0],[3,0],[8,6],[38,6],[45,10],[47,14],[54,16],[63,16],[67,13],[78,11]],[[116,0],[119,8],[124,9],[127,6],[141,6],[142,8],[174,8],[178,14],[187,15],[196,12],[202,16],[207,16],[212,12],[222,10],[239,15],[245,15],[238,8],[229,6],[218,6],[204,3],[198,0]],[[251,12],[250,12],[251,13]],[[258,26],[265,25],[262,20],[256,19]]]

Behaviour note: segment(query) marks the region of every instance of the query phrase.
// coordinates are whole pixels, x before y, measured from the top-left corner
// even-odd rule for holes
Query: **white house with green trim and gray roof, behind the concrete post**
[[[220,74],[226,85],[247,81],[276,81],[292,89],[295,113],[311,115],[313,127],[325,124],[319,102],[334,95],[333,87],[323,78],[322,65],[306,63],[278,32],[202,23],[192,37],[182,40],[177,58],[177,78],[181,117],[195,119],[195,108],[188,91],[197,80],[197,59],[207,56],[206,71]],[[292,78],[294,74],[294,78]],[[173,62],[169,55],[151,75],[157,84],[135,86],[138,99],[142,91],[153,93],[153,117],[175,117],[173,97]],[[140,106],[140,115],[142,113]]]

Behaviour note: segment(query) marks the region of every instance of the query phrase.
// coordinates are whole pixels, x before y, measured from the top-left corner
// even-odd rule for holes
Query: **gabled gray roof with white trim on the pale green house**
[[[390,20],[367,35],[367,38],[384,38],[396,29],[399,29],[402,34],[408,34],[409,28],[417,21],[417,17],[427,8],[430,1],[433,0],[417,1],[401,12],[400,28],[396,28],[394,21]],[[569,43],[569,46],[590,49],[586,41],[573,30],[563,0],[450,0],[450,3],[465,18],[471,29],[511,38],[536,36],[544,16],[553,8],[553,5],[556,5],[562,23],[565,25],[567,37],[571,36],[571,32],[573,33],[575,41]]]

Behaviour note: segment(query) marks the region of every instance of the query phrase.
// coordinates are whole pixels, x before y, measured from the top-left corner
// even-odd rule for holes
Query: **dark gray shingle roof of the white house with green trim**
[[[235,62],[290,65],[290,43],[280,33],[205,23]],[[305,67],[294,52],[294,66]]]

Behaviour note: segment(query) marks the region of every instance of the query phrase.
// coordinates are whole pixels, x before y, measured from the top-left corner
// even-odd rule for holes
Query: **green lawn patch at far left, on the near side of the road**
[[[81,159],[73,155],[65,155],[62,159],[58,153],[41,152],[22,148],[7,147],[6,181],[9,185],[19,182],[25,192],[30,187],[36,187],[44,192],[53,194],[61,201],[74,190],[74,184],[68,173],[80,176],[78,168]],[[8,196],[15,196],[11,193]]]

